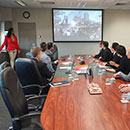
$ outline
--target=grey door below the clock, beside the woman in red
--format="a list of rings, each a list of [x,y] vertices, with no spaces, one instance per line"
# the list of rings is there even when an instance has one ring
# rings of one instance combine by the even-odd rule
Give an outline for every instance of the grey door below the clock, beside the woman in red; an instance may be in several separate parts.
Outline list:
[[[36,46],[36,24],[18,23],[20,57],[26,57],[26,53]]]

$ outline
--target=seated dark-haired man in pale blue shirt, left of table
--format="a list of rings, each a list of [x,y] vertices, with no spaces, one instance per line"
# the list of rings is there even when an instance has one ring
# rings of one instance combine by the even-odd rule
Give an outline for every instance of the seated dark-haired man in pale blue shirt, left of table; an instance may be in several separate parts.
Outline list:
[[[51,62],[51,58],[46,54],[46,51],[47,51],[47,45],[45,42],[42,42],[40,44],[41,46],[41,49],[42,49],[42,54],[41,54],[41,58],[40,60],[44,63],[46,63],[47,65],[47,68],[49,69],[49,71],[51,71],[52,73],[55,72],[53,66],[52,66],[52,62]]]

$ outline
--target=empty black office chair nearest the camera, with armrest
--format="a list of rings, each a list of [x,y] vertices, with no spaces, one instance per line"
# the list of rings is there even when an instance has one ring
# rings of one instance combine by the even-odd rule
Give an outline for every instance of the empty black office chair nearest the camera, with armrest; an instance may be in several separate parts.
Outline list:
[[[12,118],[11,130],[42,130],[40,113],[29,113],[25,95],[11,67],[3,69],[0,73],[0,90]]]

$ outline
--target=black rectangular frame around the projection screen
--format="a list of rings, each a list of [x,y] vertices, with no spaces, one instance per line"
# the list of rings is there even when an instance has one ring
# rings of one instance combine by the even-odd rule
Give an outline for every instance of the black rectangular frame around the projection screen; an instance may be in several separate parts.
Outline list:
[[[57,41],[57,40],[55,40],[55,38],[54,38],[54,10],[88,10],[88,11],[101,11],[102,12],[102,26],[101,26],[101,40],[99,40],[99,41]],[[104,10],[103,9],[77,9],[77,8],[52,8],[52,38],[53,38],[53,42],[56,42],[56,43],[58,43],[58,42],[71,42],[71,43],[74,43],[74,42],[87,42],[87,43],[89,43],[89,42],[100,42],[100,41],[102,41],[103,40],[103,17],[104,17]]]

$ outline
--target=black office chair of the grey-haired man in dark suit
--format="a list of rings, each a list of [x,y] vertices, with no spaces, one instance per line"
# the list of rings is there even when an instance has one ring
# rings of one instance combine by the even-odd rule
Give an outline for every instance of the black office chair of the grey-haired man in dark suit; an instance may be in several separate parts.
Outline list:
[[[43,80],[41,74],[37,68],[34,60],[28,58],[18,58],[15,62],[15,70],[22,86],[26,88],[28,85],[32,85],[32,88],[24,89],[24,93],[27,94],[39,94],[43,86]]]

